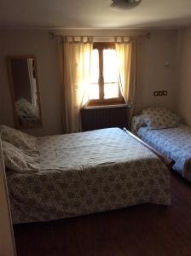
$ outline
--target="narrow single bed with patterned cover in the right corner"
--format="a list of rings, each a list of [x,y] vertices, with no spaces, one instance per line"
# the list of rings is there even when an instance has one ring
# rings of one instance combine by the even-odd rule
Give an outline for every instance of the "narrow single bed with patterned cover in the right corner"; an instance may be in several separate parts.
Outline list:
[[[150,127],[150,119],[153,119],[153,116],[159,119],[158,113],[161,113],[160,117],[162,117],[166,112],[169,114],[166,118],[163,117],[165,124]],[[171,158],[174,161],[172,169],[191,181],[191,128],[183,125],[179,118],[174,119],[176,121],[171,124],[167,123],[171,114],[175,117],[174,113],[164,108],[163,111],[161,108],[143,110],[133,119],[134,133],[161,154]]]

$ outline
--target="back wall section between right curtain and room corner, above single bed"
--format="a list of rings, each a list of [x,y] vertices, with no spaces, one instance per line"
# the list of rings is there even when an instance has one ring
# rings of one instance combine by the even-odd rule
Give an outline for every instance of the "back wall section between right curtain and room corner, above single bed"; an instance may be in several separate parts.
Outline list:
[[[167,90],[168,95],[153,96],[154,90]],[[153,32],[146,44],[142,107],[149,106],[177,108],[177,31]]]

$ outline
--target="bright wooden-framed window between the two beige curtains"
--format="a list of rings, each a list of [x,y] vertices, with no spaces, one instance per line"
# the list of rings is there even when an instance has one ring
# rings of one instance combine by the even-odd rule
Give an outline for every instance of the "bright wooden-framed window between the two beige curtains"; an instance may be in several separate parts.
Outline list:
[[[124,103],[113,43],[94,44],[90,81],[90,105]]]

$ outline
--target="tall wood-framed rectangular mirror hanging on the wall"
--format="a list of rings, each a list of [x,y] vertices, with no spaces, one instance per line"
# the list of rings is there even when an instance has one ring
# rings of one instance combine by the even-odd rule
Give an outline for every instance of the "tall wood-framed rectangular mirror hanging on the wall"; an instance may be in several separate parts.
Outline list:
[[[8,68],[16,127],[42,126],[35,56],[9,56]]]

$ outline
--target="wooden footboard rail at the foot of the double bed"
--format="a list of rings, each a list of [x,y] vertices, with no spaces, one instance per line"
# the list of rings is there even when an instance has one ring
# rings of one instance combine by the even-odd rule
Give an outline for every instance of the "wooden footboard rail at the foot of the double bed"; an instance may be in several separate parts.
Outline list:
[[[142,145],[144,145],[146,148],[148,148],[151,151],[153,151],[153,153],[156,154],[159,157],[159,159],[162,160],[165,163],[165,165],[168,167],[169,171],[172,170],[172,166],[175,163],[174,160],[171,160],[171,158],[168,158],[164,154],[161,154],[158,150],[152,148],[150,145],[148,145],[147,143],[143,142],[139,137],[136,137],[136,135],[134,135],[132,132],[128,131],[126,128],[124,128],[123,130],[124,130],[124,132],[129,134],[131,137],[135,138],[138,142],[142,143]]]

